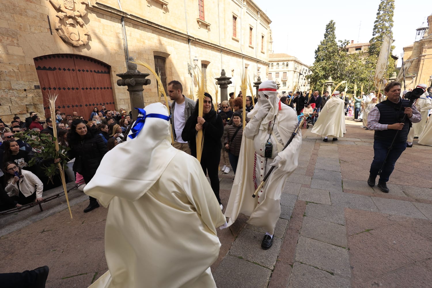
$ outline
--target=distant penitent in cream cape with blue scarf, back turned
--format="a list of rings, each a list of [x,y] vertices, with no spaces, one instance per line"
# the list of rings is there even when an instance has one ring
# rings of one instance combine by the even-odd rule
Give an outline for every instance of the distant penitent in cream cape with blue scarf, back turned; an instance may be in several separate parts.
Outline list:
[[[331,97],[321,109],[311,132],[321,136],[343,137],[346,132],[343,105],[342,99]]]

